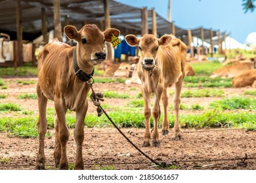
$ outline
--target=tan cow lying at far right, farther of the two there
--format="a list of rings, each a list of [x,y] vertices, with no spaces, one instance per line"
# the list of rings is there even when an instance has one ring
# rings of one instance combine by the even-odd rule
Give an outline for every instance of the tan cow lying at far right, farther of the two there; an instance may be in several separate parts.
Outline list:
[[[251,60],[255,60],[251,59]],[[248,71],[254,69],[255,61],[244,62],[244,63],[234,63],[233,65],[226,65],[213,72],[211,78],[223,77],[223,78],[234,78],[235,76],[240,75],[243,71]]]

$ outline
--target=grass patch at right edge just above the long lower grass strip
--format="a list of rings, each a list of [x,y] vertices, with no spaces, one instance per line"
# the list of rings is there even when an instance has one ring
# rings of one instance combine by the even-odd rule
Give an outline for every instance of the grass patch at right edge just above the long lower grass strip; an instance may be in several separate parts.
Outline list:
[[[248,97],[230,97],[228,99],[213,101],[209,106],[212,108],[220,108],[221,110],[256,109],[256,99]]]

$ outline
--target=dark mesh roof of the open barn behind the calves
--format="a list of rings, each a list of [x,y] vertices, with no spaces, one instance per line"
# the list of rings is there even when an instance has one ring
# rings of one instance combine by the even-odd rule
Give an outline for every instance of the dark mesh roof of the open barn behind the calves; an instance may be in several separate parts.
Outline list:
[[[48,30],[53,29],[53,0],[20,0],[22,9],[23,37],[33,40],[41,35],[41,7],[45,7]],[[131,7],[109,0],[110,19],[112,27],[127,33],[140,34],[142,8]],[[68,16],[70,24],[81,28],[84,24],[96,24],[102,27],[104,22],[104,4],[102,0],[61,0],[60,14],[62,25],[64,16]],[[0,0],[0,32],[9,33],[16,39],[16,0]],[[171,22],[156,12],[158,35],[171,33]],[[152,32],[152,10],[148,9],[148,29]],[[203,28],[204,29],[204,28]],[[186,37],[187,29],[175,25],[175,35]],[[200,28],[192,29],[192,35],[201,37]],[[213,36],[217,31],[213,31]],[[209,29],[204,29],[205,39],[209,39]]]

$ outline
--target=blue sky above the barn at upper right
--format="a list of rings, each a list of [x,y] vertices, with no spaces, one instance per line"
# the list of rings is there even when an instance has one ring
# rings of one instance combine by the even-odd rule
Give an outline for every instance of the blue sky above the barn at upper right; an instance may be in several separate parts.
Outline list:
[[[116,0],[133,7],[154,7],[167,19],[169,0]],[[231,33],[242,44],[247,35],[256,32],[256,9],[244,13],[242,0],[171,0],[171,21],[184,29],[212,28]]]

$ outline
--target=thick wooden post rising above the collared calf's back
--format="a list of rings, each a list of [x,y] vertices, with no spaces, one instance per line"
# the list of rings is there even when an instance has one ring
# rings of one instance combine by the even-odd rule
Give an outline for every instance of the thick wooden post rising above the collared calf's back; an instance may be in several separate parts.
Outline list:
[[[60,0],[53,0],[54,37],[62,42],[62,28],[60,21]]]

